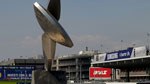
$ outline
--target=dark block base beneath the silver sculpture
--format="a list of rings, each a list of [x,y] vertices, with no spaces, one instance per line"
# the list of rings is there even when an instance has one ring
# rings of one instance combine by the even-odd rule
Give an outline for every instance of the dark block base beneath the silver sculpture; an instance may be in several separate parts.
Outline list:
[[[67,84],[64,71],[35,70],[32,72],[32,84]]]

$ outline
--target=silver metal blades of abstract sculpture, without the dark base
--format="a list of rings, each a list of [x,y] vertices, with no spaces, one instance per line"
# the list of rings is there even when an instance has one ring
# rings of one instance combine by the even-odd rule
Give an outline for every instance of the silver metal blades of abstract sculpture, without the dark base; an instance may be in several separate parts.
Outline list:
[[[63,27],[59,24],[60,0],[50,0],[47,9],[37,2],[34,3],[36,18],[44,31],[42,35],[43,54],[46,70],[51,69],[52,59],[55,55],[56,43],[72,47],[73,43]]]

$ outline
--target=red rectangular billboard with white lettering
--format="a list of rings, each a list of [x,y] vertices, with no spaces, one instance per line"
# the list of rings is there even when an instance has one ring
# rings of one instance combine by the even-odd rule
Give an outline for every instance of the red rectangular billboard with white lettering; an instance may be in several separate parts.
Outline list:
[[[111,79],[111,68],[91,67],[89,75],[90,79]]]

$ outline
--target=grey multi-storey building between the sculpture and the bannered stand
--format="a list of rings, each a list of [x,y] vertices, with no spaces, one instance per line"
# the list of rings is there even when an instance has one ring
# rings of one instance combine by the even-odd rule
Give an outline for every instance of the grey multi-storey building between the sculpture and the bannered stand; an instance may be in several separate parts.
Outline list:
[[[52,62],[52,70],[66,71],[67,80],[89,80],[91,58],[97,51],[80,51],[79,54],[56,57]]]

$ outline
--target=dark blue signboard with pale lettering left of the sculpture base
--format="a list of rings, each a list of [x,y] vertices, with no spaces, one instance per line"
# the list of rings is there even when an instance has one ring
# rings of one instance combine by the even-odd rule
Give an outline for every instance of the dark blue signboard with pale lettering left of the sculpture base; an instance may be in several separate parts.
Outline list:
[[[0,66],[1,80],[32,80],[32,71],[34,66]]]

